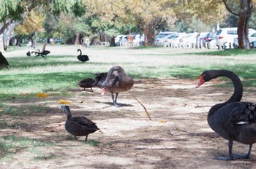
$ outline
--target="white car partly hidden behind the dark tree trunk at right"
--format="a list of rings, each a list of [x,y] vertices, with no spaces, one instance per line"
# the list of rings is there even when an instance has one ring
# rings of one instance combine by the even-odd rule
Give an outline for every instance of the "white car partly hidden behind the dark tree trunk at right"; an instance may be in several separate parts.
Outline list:
[[[249,34],[255,31],[249,28]],[[234,45],[234,38],[237,38],[237,28],[221,28],[217,31],[217,46],[222,49],[231,49]]]

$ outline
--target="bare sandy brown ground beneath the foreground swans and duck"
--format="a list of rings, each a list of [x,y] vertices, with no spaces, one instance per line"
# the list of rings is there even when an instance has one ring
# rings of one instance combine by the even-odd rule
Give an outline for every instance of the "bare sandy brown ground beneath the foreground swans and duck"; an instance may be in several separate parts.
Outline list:
[[[85,137],[74,141],[64,130],[66,117],[56,103],[59,98],[52,95],[23,101],[23,105],[50,103],[51,107],[23,118],[29,125],[1,130],[1,135],[52,141],[55,146],[38,146],[37,153],[17,151],[14,160],[2,162],[0,168],[254,168],[255,149],[250,160],[214,160],[227,154],[227,141],[208,126],[207,112],[227,100],[233,89],[212,87],[217,81],[195,89],[197,80],[135,80],[130,92],[152,120],[129,92],[118,96],[118,103],[126,106],[116,108],[111,106],[110,94],[100,95],[97,88],[94,93],[80,88],[69,91],[72,97],[64,99],[71,102],[72,114],[88,117],[102,130],[89,135],[87,143]],[[255,95],[246,91],[244,101],[255,101]],[[248,146],[235,142],[234,153],[245,154],[247,150]]]

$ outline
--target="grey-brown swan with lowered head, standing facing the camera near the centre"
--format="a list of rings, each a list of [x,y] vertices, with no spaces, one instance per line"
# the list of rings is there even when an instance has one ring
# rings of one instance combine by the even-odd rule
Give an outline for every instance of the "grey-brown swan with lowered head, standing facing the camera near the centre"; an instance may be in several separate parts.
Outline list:
[[[116,107],[120,107],[121,105],[116,103],[118,93],[125,92],[130,90],[134,84],[131,76],[128,76],[124,68],[121,66],[113,66],[108,71],[108,74],[105,73],[100,74],[102,78],[99,76],[96,77],[96,86],[102,88],[102,95],[106,92],[111,93],[113,105]],[[104,81],[103,81],[104,80]],[[113,93],[116,93],[116,98]]]

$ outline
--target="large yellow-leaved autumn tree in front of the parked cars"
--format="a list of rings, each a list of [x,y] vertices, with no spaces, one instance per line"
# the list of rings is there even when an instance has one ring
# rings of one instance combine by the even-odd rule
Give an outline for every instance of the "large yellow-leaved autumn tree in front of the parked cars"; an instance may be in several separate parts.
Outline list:
[[[103,20],[109,22],[133,23],[138,25],[153,44],[154,36],[164,27],[173,25],[176,20],[195,17],[206,24],[219,23],[223,20],[221,0],[83,0],[95,13],[101,13]],[[195,26],[196,27],[196,26]]]

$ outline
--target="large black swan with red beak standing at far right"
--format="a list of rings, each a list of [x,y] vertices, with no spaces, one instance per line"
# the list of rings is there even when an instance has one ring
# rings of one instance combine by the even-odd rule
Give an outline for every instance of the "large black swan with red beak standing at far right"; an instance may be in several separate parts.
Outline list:
[[[209,126],[222,138],[228,140],[228,157],[217,157],[217,160],[249,159],[252,144],[256,143],[256,104],[241,102],[243,85],[239,77],[232,71],[204,71],[197,87],[219,76],[227,76],[232,80],[234,93],[228,101],[212,106],[208,112]],[[233,141],[248,144],[247,154],[233,154]]]

